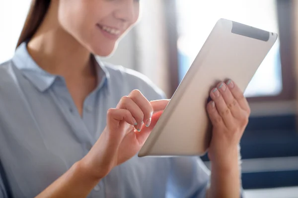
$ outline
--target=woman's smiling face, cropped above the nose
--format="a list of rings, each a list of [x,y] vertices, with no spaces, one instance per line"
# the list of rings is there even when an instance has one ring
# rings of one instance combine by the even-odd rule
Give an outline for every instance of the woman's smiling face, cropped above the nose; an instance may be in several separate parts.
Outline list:
[[[100,56],[111,54],[117,41],[138,20],[140,0],[59,0],[62,28]]]

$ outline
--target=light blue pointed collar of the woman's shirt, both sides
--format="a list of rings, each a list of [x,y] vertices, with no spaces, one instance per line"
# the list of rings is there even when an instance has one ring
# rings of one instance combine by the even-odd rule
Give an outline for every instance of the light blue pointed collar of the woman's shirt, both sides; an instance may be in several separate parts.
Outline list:
[[[95,60],[97,77],[100,79],[96,90],[102,88],[110,79],[110,74],[105,68],[104,64],[92,54],[92,58]],[[27,50],[27,42],[23,42],[15,51],[12,57],[12,62],[22,71],[22,74],[41,92],[49,89],[55,80],[59,77],[43,70],[33,60]]]

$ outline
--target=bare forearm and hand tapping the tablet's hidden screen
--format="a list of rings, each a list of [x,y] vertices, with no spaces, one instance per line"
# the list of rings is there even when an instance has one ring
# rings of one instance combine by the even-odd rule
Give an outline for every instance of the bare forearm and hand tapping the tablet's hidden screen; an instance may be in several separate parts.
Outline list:
[[[129,160],[143,146],[168,100],[149,102],[140,91],[123,97],[107,113],[107,126],[81,160],[37,198],[85,198],[113,167]],[[151,112],[154,112],[152,115]],[[150,120],[149,126],[142,124]],[[140,123],[140,124],[136,124]],[[137,129],[142,127],[141,132]]]

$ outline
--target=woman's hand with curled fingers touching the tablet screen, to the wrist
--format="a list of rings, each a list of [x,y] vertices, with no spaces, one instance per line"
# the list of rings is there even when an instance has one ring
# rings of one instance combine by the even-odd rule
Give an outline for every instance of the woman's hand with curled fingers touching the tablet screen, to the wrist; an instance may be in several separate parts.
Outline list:
[[[80,160],[82,166],[101,179],[112,168],[136,155],[168,102],[168,99],[148,101],[139,90],[122,97],[116,108],[108,110],[107,125]]]

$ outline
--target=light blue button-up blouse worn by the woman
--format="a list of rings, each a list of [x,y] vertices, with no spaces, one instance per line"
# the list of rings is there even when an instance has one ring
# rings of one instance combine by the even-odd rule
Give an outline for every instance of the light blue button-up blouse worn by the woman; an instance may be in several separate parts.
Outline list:
[[[26,43],[0,64],[0,198],[33,198],[96,142],[106,112],[139,89],[164,94],[141,73],[97,60],[99,82],[77,112],[63,77],[42,70]],[[89,198],[204,198],[209,170],[198,157],[139,158],[115,167]]]

